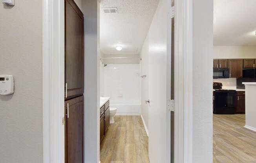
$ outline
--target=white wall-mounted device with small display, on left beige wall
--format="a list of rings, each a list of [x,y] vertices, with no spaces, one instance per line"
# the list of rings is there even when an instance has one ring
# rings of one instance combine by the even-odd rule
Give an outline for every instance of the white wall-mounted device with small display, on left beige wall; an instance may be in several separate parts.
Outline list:
[[[0,94],[9,95],[14,93],[13,75],[0,75]]]

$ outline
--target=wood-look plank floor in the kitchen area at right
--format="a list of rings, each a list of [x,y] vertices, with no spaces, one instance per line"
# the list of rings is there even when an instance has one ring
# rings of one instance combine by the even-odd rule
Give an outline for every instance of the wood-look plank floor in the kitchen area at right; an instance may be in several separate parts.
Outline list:
[[[256,132],[244,125],[245,114],[214,114],[214,163],[256,163]]]

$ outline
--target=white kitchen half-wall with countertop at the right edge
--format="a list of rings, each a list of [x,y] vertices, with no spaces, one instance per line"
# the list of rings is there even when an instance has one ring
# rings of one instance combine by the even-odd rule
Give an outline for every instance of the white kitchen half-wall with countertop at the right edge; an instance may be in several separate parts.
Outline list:
[[[245,85],[245,128],[256,132],[256,82]]]

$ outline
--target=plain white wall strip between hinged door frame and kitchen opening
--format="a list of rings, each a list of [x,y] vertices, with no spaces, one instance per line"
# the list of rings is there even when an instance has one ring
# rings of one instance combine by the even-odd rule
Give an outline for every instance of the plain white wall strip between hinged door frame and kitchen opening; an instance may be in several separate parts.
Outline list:
[[[212,60],[213,1],[193,0],[193,163],[212,163]]]

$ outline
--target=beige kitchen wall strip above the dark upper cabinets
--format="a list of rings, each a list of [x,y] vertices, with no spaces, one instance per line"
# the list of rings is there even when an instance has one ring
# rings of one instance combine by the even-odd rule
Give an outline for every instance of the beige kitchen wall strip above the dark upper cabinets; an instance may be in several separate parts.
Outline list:
[[[256,46],[214,46],[214,58],[256,58]]]

